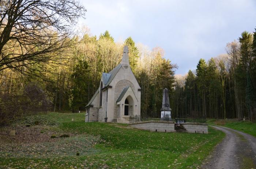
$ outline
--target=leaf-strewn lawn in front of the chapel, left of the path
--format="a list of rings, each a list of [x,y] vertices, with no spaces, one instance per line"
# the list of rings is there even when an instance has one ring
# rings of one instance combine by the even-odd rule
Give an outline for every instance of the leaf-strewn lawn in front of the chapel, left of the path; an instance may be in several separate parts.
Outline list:
[[[197,168],[225,137],[211,127],[209,134],[188,134],[126,126],[84,123],[83,113],[25,117],[1,128],[0,168]],[[7,134],[13,128],[17,138]]]

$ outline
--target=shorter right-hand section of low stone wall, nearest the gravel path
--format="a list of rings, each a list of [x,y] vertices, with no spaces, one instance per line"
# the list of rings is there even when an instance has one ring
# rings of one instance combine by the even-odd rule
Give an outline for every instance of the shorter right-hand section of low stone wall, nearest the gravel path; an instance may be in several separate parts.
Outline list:
[[[189,133],[202,133],[208,134],[208,124],[206,123],[181,123]]]

